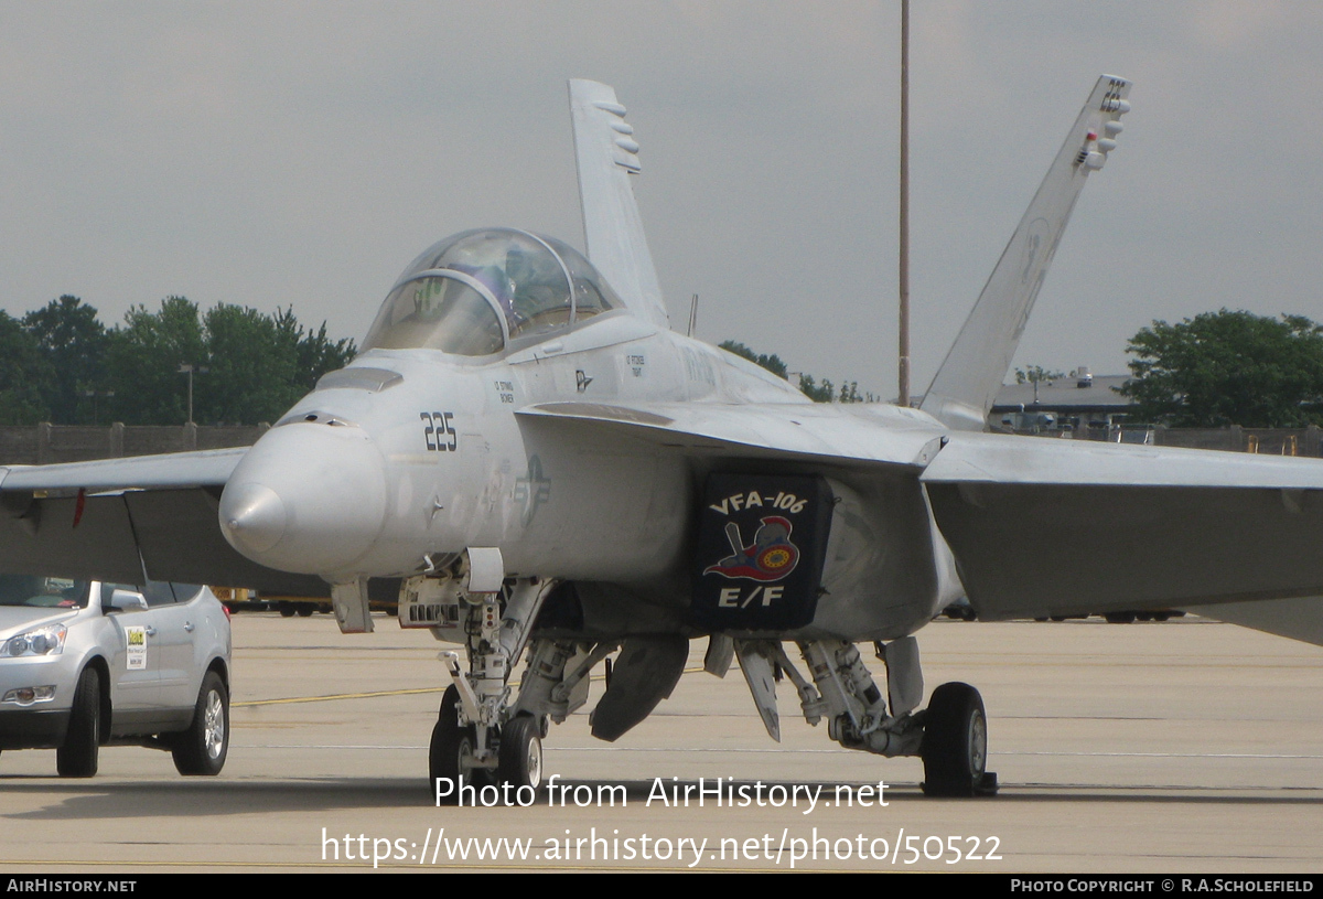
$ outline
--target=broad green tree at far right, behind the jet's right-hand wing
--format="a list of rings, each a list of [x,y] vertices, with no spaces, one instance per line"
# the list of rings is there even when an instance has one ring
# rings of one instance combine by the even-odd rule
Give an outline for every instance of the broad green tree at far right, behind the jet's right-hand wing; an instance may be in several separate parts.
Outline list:
[[[1126,350],[1121,393],[1136,417],[1177,428],[1323,424],[1323,327],[1301,315],[1204,312],[1154,322]]]

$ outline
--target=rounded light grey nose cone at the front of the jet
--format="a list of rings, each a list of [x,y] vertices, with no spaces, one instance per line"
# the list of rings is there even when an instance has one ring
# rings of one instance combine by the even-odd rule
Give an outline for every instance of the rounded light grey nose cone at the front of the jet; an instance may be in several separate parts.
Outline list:
[[[269,430],[221,494],[225,539],[279,571],[351,571],[372,549],[384,520],[381,454],[352,426],[298,422]]]

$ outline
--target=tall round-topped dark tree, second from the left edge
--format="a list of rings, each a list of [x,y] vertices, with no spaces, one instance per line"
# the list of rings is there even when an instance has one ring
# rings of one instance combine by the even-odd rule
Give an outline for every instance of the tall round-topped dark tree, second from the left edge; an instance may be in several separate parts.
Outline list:
[[[50,364],[50,381],[44,388],[50,421],[57,425],[91,421],[93,402],[85,393],[105,389],[110,344],[97,310],[65,294],[24,315],[22,327]]]

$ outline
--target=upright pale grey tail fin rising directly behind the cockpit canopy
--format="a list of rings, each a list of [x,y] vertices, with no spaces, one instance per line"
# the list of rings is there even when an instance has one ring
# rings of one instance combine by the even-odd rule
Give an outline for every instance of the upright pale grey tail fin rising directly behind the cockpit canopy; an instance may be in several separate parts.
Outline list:
[[[630,175],[639,171],[639,144],[634,127],[624,120],[624,107],[613,87],[573,79],[570,118],[587,258],[627,306],[650,322],[669,327],[630,184]]]

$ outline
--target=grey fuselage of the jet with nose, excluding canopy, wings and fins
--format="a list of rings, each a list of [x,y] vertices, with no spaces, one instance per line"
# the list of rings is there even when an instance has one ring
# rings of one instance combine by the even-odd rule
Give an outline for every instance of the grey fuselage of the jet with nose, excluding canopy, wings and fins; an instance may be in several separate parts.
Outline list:
[[[566,401],[758,404],[787,417],[808,404],[785,380],[628,308],[478,357],[374,347],[262,436],[225,489],[222,531],[262,565],[331,583],[407,577],[429,560],[496,547],[512,577],[635,585],[644,596],[652,584],[655,600],[684,604],[701,478],[713,463],[517,414]],[[934,436],[943,432],[893,406],[839,413],[878,429],[893,416],[913,428],[921,416]],[[841,561],[828,580],[840,581],[832,593],[841,609],[830,630],[909,633],[958,594],[950,555],[917,478],[909,481],[845,477],[837,486],[857,493],[859,508],[840,516],[853,524],[836,526],[856,534],[836,538]],[[857,614],[864,608],[872,613]]]

